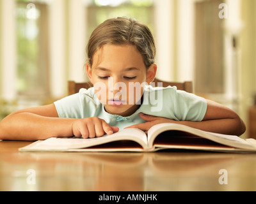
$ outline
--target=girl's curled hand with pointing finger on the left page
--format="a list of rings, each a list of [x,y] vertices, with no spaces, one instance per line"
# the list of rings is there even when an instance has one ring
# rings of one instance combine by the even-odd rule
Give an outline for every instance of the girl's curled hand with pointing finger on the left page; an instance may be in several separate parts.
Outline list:
[[[118,132],[117,127],[109,126],[105,120],[99,117],[88,117],[77,119],[72,124],[72,133],[74,136],[83,136],[83,138],[95,138],[102,135],[111,135]]]

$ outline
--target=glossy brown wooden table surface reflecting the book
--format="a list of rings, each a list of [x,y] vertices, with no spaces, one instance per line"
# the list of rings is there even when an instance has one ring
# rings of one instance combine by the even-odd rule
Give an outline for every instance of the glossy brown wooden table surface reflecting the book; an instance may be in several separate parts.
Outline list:
[[[256,191],[256,154],[19,152],[0,141],[0,191]]]

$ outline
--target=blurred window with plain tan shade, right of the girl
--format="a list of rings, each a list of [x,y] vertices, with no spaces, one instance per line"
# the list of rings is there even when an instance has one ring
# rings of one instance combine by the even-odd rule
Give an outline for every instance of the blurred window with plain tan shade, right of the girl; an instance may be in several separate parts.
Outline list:
[[[195,4],[195,82],[196,92],[224,92],[223,20],[218,17],[221,1]]]

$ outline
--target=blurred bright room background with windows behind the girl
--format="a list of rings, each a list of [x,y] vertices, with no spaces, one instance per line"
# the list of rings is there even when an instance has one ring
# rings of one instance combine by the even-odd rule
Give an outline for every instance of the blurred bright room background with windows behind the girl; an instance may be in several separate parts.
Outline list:
[[[0,120],[67,96],[68,80],[86,81],[90,34],[119,16],[150,27],[157,78],[191,80],[195,94],[232,108],[248,125],[256,94],[255,0],[0,0]]]

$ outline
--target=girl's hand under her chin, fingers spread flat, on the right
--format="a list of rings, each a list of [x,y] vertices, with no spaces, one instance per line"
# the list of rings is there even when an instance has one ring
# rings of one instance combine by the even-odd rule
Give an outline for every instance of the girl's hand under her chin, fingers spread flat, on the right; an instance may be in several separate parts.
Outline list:
[[[126,128],[139,128],[139,129],[145,131],[145,133],[147,133],[148,129],[156,124],[164,123],[164,122],[173,122],[173,123],[176,122],[177,123],[177,121],[171,120],[171,119],[166,119],[165,117],[157,117],[157,116],[153,116],[153,115],[146,115],[143,113],[140,113],[140,117],[141,117],[141,119],[147,120],[148,122],[135,124],[133,126],[129,126]]]

